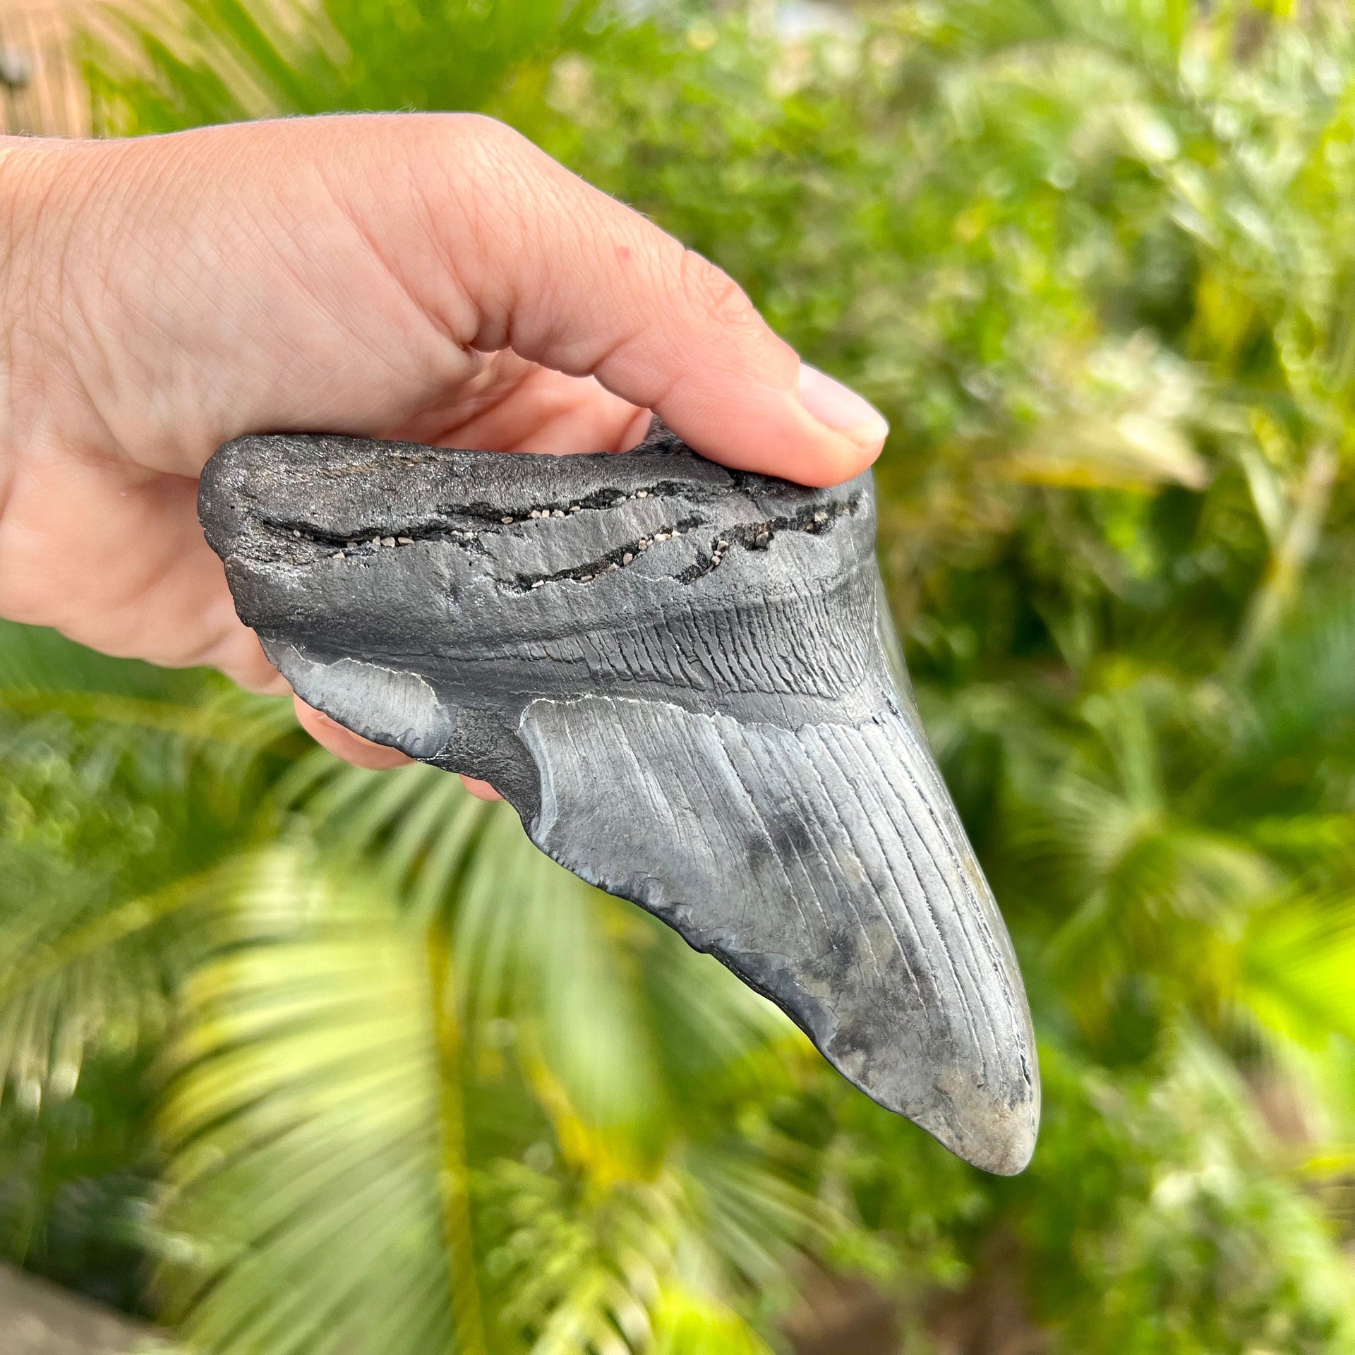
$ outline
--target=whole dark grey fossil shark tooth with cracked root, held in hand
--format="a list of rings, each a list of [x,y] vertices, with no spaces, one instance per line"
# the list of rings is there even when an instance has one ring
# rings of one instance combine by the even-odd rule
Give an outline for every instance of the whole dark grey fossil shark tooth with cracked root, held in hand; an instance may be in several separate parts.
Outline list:
[[[251,436],[199,512],[305,701],[489,780],[882,1106],[1026,1165],[1026,996],[888,631],[869,473],[805,489],[657,427],[581,457]]]

